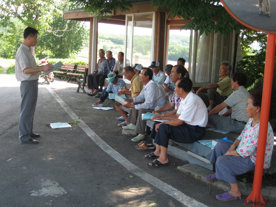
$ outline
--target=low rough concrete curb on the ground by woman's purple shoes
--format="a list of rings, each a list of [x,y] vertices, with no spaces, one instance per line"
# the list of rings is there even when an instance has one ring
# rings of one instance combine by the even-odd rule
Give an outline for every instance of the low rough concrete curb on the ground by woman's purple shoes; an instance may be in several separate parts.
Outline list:
[[[195,164],[185,164],[183,166],[178,166],[177,169],[181,170],[184,173],[188,173],[194,178],[201,180],[203,182],[206,182],[208,184],[209,182],[204,180],[204,177],[214,173],[211,170],[207,170],[204,167],[200,167]],[[239,188],[242,194],[249,195],[252,192],[253,184],[240,182],[240,181],[238,181],[237,184],[239,185]],[[216,180],[216,181],[210,182],[210,185],[213,185],[216,188],[222,189],[226,192],[230,191],[230,185],[227,182],[222,180]],[[265,198],[276,200],[276,187],[262,186],[261,194]]]

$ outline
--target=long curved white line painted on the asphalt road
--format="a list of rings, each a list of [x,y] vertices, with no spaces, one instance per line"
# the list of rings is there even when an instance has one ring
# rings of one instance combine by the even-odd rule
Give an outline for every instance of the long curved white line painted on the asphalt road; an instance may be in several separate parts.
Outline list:
[[[165,192],[169,196],[175,198],[179,202],[183,203],[184,205],[188,207],[208,207],[204,205],[203,203],[200,203],[196,201],[195,199],[185,195],[181,191],[178,191],[174,187],[166,184],[165,182],[157,179],[156,177],[146,173],[144,170],[140,169],[136,165],[132,164],[130,161],[128,161],[126,158],[124,158],[119,152],[115,151],[113,148],[111,148],[107,143],[105,143],[98,135],[95,134],[95,132],[92,131],[79,117],[66,105],[66,103],[50,88],[50,86],[47,86],[47,89],[50,91],[50,93],[54,96],[54,98],[57,100],[57,102],[60,103],[62,108],[69,114],[69,116],[73,120],[79,120],[81,121],[78,125],[81,127],[81,129],[84,130],[84,132],[101,148],[103,149],[108,155],[113,157],[117,162],[122,164],[126,169],[128,169],[131,173],[137,175],[141,179],[145,180],[149,184],[155,186],[156,188],[159,188],[161,191]]]

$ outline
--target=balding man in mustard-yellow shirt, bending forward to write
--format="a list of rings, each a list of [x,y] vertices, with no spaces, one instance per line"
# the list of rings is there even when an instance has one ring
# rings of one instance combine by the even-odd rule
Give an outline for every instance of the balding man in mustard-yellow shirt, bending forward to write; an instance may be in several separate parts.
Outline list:
[[[144,84],[139,81],[139,73],[134,72],[134,69],[131,66],[126,66],[123,69],[123,74],[125,75],[125,78],[131,81],[131,89],[130,90],[122,90],[119,91],[117,94],[118,96],[125,94],[126,96],[137,97],[140,92],[143,90]],[[124,122],[118,124],[118,126],[127,126],[130,123],[128,122],[128,116],[127,113],[130,113],[131,108],[125,108],[122,106],[119,102],[106,100],[107,104],[115,106],[119,114],[122,115],[122,117],[125,119]]]

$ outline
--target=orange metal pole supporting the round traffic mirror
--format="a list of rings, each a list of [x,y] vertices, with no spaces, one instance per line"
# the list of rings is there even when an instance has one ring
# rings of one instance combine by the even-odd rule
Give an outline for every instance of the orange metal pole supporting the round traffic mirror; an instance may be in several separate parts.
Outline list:
[[[265,72],[263,78],[263,96],[262,96],[262,108],[260,116],[260,131],[258,138],[258,148],[257,157],[255,165],[255,173],[253,180],[253,189],[251,194],[245,199],[246,201],[251,201],[254,204],[263,203],[265,204],[263,197],[261,195],[261,185],[263,178],[263,162],[266,150],[266,134],[269,120],[269,108],[271,99],[271,88],[272,88],[272,77],[273,77],[273,67],[275,58],[275,40],[276,34],[267,35],[267,45],[266,45],[266,62],[265,62]],[[249,202],[247,202],[249,203]]]

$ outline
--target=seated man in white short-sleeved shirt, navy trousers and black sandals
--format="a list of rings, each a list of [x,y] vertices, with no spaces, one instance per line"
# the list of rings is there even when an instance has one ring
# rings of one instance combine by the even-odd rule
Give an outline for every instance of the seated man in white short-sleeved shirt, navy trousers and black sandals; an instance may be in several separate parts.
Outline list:
[[[156,149],[144,158],[156,160],[147,166],[156,168],[168,165],[167,148],[169,139],[179,143],[194,143],[204,135],[204,127],[207,125],[207,109],[200,97],[192,93],[192,81],[181,78],[176,82],[175,91],[181,97],[181,103],[176,114],[163,116],[161,123],[154,123],[150,138],[154,139]],[[152,118],[152,120],[154,117]]]

